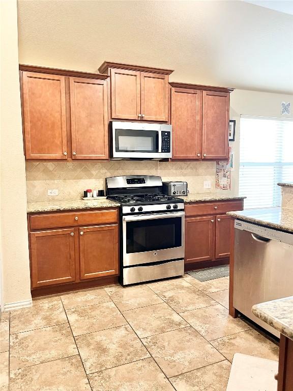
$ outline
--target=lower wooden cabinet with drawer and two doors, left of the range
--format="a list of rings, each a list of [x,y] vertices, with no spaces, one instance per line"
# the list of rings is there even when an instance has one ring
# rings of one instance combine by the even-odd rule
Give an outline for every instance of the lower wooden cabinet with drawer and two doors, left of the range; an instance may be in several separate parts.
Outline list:
[[[119,275],[118,209],[76,212],[74,222],[78,224],[80,218],[84,226],[52,227],[68,224],[72,215],[56,212],[28,217],[32,289]],[[42,229],[34,228],[37,223]]]

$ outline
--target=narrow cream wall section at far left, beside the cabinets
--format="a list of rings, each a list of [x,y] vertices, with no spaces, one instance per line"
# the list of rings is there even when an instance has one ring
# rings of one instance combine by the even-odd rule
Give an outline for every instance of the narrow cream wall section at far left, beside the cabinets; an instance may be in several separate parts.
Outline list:
[[[26,225],[25,163],[20,110],[16,0],[2,0],[0,241],[4,308],[30,304],[30,264]]]

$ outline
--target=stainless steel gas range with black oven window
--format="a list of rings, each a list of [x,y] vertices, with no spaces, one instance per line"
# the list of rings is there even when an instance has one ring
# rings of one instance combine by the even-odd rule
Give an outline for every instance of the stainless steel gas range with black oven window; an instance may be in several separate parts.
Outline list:
[[[106,178],[106,194],[121,204],[121,284],[183,275],[184,201],[148,175]]]

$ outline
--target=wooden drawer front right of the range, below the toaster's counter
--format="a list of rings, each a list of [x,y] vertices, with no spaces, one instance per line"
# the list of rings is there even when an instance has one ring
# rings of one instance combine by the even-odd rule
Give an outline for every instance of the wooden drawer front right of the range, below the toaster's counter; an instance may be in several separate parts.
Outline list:
[[[232,201],[232,202],[213,202],[207,204],[191,204],[185,206],[186,216],[197,216],[201,214],[212,214],[212,213],[226,213],[233,210],[242,210],[243,201]]]

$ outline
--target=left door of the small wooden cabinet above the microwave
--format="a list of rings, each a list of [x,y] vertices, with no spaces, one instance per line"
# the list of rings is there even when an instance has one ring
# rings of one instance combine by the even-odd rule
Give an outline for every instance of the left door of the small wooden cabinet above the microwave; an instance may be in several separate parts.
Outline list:
[[[123,120],[140,119],[140,72],[111,69],[111,116]]]

